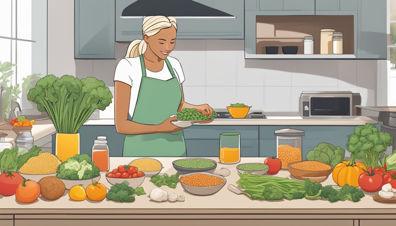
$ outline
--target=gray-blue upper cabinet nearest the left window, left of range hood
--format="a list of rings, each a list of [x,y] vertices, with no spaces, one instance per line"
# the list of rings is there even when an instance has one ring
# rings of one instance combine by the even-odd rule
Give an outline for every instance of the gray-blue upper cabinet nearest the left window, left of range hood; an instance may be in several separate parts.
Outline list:
[[[74,59],[114,59],[115,0],[74,0]]]

